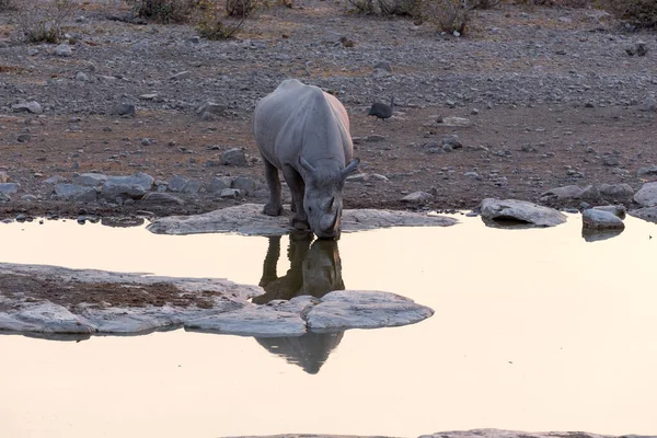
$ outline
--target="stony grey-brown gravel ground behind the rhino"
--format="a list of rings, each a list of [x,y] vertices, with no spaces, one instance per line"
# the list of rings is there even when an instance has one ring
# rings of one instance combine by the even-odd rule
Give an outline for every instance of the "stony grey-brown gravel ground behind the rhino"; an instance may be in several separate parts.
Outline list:
[[[652,175],[639,170],[657,164],[656,35],[627,33],[602,11],[507,5],[479,12],[454,37],[304,0],[261,13],[230,42],[116,20],[127,12],[116,1],[81,5],[68,47],[20,43],[0,13],[0,183],[19,184],[0,187],[1,216],[164,216],[264,201],[251,115],[290,77],[349,112],[362,172],[345,187],[349,208],[473,208],[485,197],[580,208],[579,198],[542,194],[602,183],[636,191]],[[641,42],[647,54],[630,56]],[[391,119],[367,117],[392,95]],[[130,105],[135,115],[122,115]],[[223,165],[231,148],[245,162]],[[88,172],[143,172],[168,196],[56,194]],[[233,196],[211,186],[237,176],[255,186]],[[427,195],[403,200],[418,191]],[[588,201],[632,204],[625,195]]]

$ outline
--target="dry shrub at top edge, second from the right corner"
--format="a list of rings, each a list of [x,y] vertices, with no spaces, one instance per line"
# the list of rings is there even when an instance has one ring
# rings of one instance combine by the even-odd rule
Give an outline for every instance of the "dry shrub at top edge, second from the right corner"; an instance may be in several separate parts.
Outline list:
[[[464,34],[476,1],[418,0],[415,16],[431,23],[439,31]]]

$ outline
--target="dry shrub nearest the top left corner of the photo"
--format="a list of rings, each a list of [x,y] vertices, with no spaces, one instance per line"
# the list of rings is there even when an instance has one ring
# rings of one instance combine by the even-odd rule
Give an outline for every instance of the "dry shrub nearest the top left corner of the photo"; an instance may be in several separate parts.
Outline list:
[[[78,8],[73,0],[22,0],[12,12],[25,41],[59,43]]]

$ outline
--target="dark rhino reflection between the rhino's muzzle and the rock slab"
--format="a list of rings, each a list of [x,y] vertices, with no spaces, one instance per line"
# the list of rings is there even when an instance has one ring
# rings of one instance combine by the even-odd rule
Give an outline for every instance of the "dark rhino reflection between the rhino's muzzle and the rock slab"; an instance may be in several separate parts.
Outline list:
[[[280,237],[269,238],[269,247],[263,265],[260,286],[265,293],[253,302],[264,304],[272,300],[289,300],[302,295],[321,298],[332,290],[344,290],[342,266],[334,240],[316,240],[312,234],[291,234],[288,258],[290,268],[278,277],[276,265],[280,257]]]

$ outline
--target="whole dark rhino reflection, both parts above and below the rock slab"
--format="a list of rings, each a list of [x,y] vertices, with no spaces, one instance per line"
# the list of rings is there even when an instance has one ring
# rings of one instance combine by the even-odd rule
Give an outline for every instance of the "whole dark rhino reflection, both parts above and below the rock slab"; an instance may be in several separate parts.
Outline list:
[[[265,293],[253,302],[264,304],[272,300],[289,300],[302,295],[321,298],[333,290],[344,290],[337,242],[315,240],[309,233],[290,234],[288,258],[290,268],[278,277],[276,265],[280,257],[280,237],[269,238],[269,247],[263,265],[260,286]],[[312,244],[311,244],[312,243]],[[258,337],[256,341],[268,351],[296,364],[310,374],[316,374],[331,351],[342,341],[344,332],[312,333],[297,337]]]

